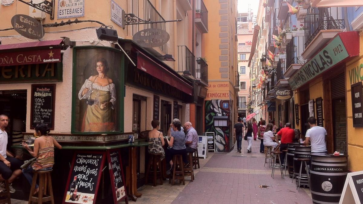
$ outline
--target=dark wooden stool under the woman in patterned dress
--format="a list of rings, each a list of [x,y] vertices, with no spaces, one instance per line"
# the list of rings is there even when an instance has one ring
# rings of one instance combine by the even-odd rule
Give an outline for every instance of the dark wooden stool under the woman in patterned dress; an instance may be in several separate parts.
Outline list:
[[[163,166],[161,163],[161,154],[150,154],[149,164],[145,175],[145,184],[148,183],[149,174],[152,173],[152,182],[156,186],[156,179],[160,178],[160,185],[163,185]]]

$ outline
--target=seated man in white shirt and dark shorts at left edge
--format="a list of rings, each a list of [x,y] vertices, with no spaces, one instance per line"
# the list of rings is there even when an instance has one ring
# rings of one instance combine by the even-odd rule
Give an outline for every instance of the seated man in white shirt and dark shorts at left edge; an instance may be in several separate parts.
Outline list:
[[[14,158],[7,149],[8,134],[5,128],[9,124],[9,118],[7,115],[0,115],[0,181],[8,180],[9,189],[11,193],[15,193],[15,189],[12,187],[14,179],[21,175],[20,166],[23,165],[23,161]],[[0,185],[0,188],[5,189],[4,183]],[[1,190],[3,190],[1,189]],[[4,191],[4,190],[3,190]]]

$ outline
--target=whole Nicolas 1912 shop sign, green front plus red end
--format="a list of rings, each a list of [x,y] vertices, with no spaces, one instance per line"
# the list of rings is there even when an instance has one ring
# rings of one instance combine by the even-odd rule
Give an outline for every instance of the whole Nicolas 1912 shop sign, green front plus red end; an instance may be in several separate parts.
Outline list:
[[[329,70],[347,57],[359,55],[358,32],[340,32],[288,79],[292,90]]]

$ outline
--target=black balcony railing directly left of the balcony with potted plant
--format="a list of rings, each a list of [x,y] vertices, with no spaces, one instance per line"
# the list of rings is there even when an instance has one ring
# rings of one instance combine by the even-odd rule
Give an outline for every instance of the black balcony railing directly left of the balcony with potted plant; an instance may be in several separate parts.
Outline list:
[[[195,56],[185,45],[178,45],[178,72],[188,71],[195,77]]]

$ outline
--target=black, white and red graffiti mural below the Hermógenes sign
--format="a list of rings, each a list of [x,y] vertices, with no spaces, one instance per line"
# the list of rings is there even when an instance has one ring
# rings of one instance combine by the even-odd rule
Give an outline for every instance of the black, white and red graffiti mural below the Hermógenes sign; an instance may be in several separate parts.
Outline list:
[[[223,108],[223,103],[230,103],[228,100],[205,101],[205,132],[215,132],[216,148],[218,152],[230,151],[230,111],[229,107]],[[213,117],[228,116],[226,126],[215,126]]]

